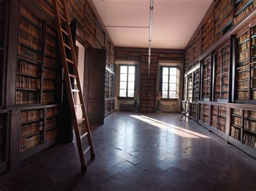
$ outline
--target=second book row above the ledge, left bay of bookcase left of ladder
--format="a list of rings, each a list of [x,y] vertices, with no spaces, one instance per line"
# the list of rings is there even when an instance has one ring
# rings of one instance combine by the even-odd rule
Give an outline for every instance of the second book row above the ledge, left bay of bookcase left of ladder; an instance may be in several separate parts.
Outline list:
[[[25,77],[25,76],[17,76],[17,88],[25,88],[25,89],[40,89],[41,86],[40,79]]]

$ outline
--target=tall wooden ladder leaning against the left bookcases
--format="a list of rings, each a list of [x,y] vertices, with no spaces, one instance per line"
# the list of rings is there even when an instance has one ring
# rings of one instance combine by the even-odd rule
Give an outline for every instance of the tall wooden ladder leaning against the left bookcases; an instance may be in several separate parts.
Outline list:
[[[84,154],[90,150],[91,158],[95,158],[95,153],[93,151],[91,132],[90,132],[89,122],[86,114],[82,88],[81,88],[80,80],[78,76],[77,61],[76,61],[75,49],[74,49],[73,41],[71,37],[68,12],[66,10],[65,0],[53,0],[52,2],[53,2],[54,14],[55,14],[60,56],[61,56],[62,65],[64,68],[64,79],[65,79],[66,89],[67,89],[68,98],[69,98],[69,105],[70,105],[70,110],[72,115],[72,124],[75,130],[75,135],[77,140],[77,147],[78,147],[78,152],[79,152],[79,157],[81,162],[81,169],[82,171],[86,171],[86,162],[85,162]],[[72,88],[71,79],[76,80],[77,89]],[[73,95],[74,93],[78,93],[80,104],[75,105],[74,95]],[[77,115],[76,115],[77,107],[82,108],[82,112],[83,112],[82,119],[77,119]],[[86,132],[83,133],[83,135],[81,135],[80,133],[80,130],[82,130],[82,127],[80,127],[81,122],[84,122],[84,126],[86,129]],[[82,138],[85,136],[87,136],[89,147],[87,147],[84,150],[82,145]]]

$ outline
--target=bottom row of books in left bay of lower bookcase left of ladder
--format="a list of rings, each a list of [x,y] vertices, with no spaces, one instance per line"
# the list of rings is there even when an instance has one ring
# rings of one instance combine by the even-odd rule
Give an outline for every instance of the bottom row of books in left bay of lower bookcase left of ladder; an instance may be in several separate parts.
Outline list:
[[[29,138],[21,139],[21,152],[29,150],[39,144],[43,143],[42,135],[38,134]]]

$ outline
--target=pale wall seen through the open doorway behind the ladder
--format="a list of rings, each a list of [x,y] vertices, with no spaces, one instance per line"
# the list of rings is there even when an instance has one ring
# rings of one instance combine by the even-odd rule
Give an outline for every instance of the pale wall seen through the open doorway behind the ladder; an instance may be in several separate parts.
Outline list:
[[[82,94],[83,94],[84,93],[83,87],[84,87],[85,47],[80,43],[78,43],[78,41],[76,41],[76,45],[78,46],[78,61],[77,61],[78,75],[79,75],[79,79],[82,87]],[[77,104],[80,104],[79,96],[77,96]],[[77,109],[77,112],[76,112],[77,118],[78,119],[83,118],[83,112],[81,107],[78,107],[76,109]]]

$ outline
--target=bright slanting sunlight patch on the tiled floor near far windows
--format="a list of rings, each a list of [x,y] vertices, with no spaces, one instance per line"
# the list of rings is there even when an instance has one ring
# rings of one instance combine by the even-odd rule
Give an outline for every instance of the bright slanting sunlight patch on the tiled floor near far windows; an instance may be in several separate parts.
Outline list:
[[[202,135],[201,133],[197,133],[197,132],[194,132],[194,131],[183,129],[183,128],[180,128],[179,126],[172,125],[172,124],[165,123],[165,122],[161,122],[157,119],[153,119],[153,118],[150,118],[150,117],[147,117],[147,116],[143,116],[143,115],[140,115],[140,116],[130,115],[130,116],[134,117],[134,118],[137,118],[140,121],[143,121],[143,122],[149,123],[153,126],[156,126],[157,128],[164,129],[166,131],[175,133],[176,135],[184,137],[184,138],[211,138],[211,137]]]

